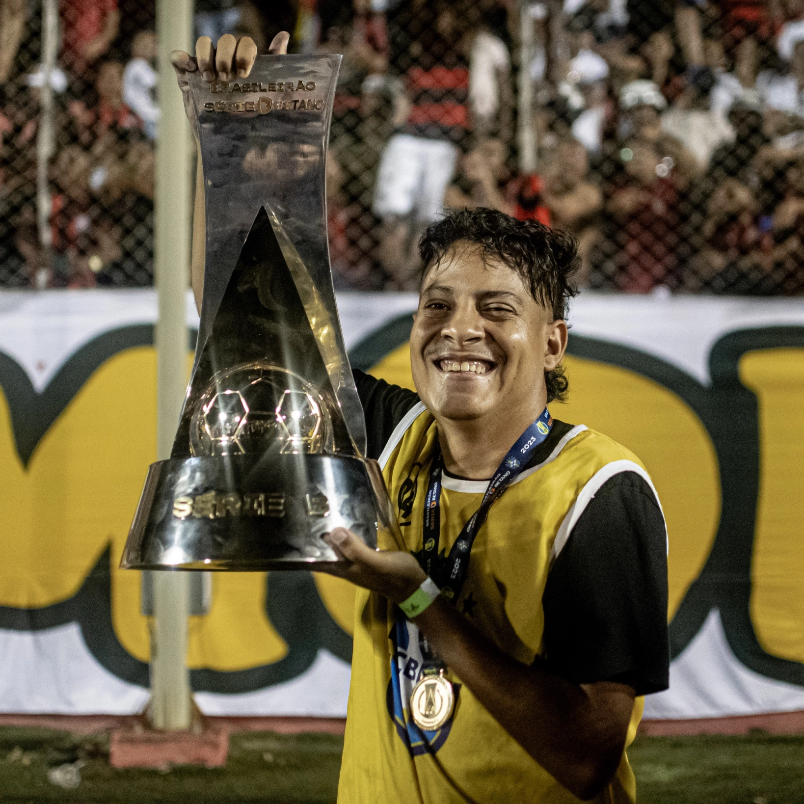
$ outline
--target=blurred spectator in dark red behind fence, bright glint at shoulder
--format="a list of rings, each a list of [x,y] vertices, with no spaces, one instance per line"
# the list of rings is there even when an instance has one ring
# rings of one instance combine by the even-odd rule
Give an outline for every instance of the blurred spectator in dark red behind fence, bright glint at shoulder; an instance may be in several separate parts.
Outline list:
[[[626,293],[677,285],[679,190],[653,142],[630,140],[622,150],[626,187],[607,205],[619,225],[615,284]],[[662,170],[663,168],[663,170]]]

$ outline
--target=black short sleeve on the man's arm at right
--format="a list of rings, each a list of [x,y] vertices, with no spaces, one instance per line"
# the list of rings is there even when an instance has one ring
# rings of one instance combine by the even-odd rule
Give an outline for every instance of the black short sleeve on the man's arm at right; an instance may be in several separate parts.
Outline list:
[[[575,683],[667,689],[667,541],[650,486],[624,472],[601,486],[544,589],[549,666]]]

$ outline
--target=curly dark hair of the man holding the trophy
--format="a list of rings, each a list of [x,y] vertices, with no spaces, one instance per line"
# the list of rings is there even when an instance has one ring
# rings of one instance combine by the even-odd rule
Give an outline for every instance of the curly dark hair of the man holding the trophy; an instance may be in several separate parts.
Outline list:
[[[478,244],[484,256],[495,257],[516,271],[535,301],[552,310],[554,319],[566,318],[568,301],[577,293],[572,277],[580,267],[575,238],[538,221],[517,220],[486,207],[451,211],[421,236],[422,279],[460,240]],[[566,401],[569,380],[563,366],[545,371],[544,382],[548,402]]]

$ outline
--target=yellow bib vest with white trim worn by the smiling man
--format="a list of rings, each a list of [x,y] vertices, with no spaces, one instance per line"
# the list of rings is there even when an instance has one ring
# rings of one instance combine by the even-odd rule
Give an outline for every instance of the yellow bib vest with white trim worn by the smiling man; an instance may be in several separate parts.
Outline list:
[[[422,509],[436,437],[433,416],[419,404],[380,457],[404,538],[404,544],[381,548],[422,549]],[[478,531],[458,610],[471,613],[474,627],[519,662],[530,664],[541,650],[542,596],[552,560],[594,492],[622,471],[637,472],[650,484],[633,453],[583,425],[574,427],[543,463],[520,474]],[[477,511],[485,487],[485,482],[444,478],[441,548],[446,552]],[[384,597],[359,589],[338,804],[578,801],[449,671],[457,692],[453,718],[437,732],[421,732],[408,712],[421,659],[416,626]],[[634,740],[642,704],[642,698],[634,704],[626,745]],[[623,753],[616,777],[596,801],[635,799],[634,774]]]

